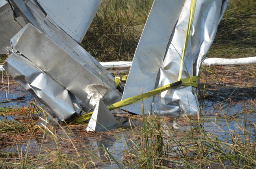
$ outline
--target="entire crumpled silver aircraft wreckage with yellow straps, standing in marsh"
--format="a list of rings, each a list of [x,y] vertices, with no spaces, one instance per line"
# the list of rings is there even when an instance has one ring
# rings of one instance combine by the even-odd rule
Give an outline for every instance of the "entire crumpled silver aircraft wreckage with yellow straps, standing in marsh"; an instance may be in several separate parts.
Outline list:
[[[4,68],[49,114],[64,121],[93,110],[79,120],[91,117],[87,130],[100,131],[117,124],[110,112],[117,108],[142,114],[143,103],[144,111],[174,116],[200,110],[200,63],[228,0],[155,0],[124,90],[79,45],[101,1],[75,3],[0,0],[0,53],[11,41]]]

